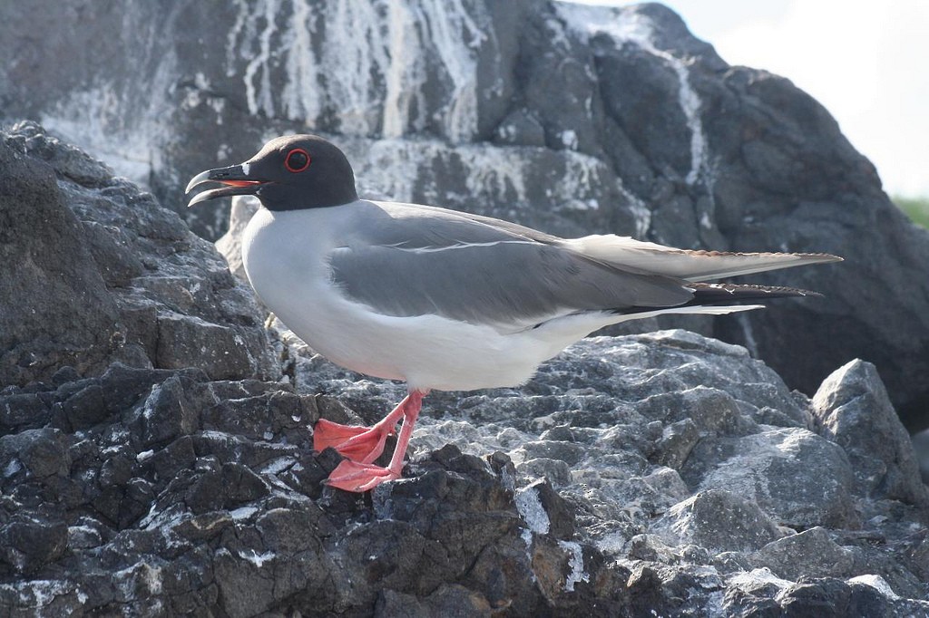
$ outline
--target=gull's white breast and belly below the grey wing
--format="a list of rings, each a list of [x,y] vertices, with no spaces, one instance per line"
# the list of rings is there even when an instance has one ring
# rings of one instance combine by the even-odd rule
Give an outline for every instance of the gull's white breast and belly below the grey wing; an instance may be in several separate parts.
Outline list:
[[[448,391],[522,383],[555,354],[547,345],[544,351],[519,345],[489,326],[438,315],[380,315],[348,300],[332,283],[328,256],[363,213],[351,206],[261,208],[243,237],[242,262],[258,296],[315,351],[360,373]]]

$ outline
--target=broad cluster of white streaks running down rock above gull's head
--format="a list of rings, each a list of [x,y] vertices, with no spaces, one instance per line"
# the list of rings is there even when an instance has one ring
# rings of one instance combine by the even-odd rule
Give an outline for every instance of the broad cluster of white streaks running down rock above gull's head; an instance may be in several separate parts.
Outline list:
[[[487,39],[471,14],[483,16],[479,6],[464,0],[328,0],[317,8],[297,0],[291,14],[281,8],[280,0],[236,5],[227,67],[233,76],[246,61],[249,113],[309,128],[331,116],[349,135],[399,137],[432,120],[452,142],[476,134],[478,49]],[[271,77],[281,72],[276,94]],[[426,86],[437,83],[442,85],[427,100]]]

